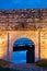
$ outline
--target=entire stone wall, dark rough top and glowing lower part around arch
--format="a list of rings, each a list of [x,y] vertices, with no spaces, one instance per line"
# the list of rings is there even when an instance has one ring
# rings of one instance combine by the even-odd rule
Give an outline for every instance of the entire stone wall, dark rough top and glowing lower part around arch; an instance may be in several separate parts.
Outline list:
[[[0,10],[0,59],[12,59],[13,43],[21,37],[34,42],[35,60],[47,59],[47,9]]]

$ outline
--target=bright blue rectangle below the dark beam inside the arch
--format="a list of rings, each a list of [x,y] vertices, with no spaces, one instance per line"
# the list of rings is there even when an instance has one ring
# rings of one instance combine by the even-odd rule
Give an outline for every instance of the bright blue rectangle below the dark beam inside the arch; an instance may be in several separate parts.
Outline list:
[[[27,50],[13,51],[12,62],[13,63],[26,63],[26,51]]]

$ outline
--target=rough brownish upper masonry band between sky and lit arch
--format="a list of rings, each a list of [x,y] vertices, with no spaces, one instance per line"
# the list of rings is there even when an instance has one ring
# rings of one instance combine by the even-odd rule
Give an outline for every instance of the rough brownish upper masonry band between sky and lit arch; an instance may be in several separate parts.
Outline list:
[[[47,28],[47,9],[0,10],[0,31]]]

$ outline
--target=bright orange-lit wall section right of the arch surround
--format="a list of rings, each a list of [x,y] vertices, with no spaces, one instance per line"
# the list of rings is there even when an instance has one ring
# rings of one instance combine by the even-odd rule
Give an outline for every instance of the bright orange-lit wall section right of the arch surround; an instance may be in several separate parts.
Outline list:
[[[40,58],[47,59],[47,29],[40,34]]]

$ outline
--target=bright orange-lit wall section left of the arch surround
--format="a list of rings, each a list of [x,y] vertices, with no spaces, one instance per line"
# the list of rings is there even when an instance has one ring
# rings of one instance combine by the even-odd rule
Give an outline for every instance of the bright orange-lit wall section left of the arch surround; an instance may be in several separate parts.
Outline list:
[[[7,35],[5,33],[0,34],[0,59],[7,55]]]

